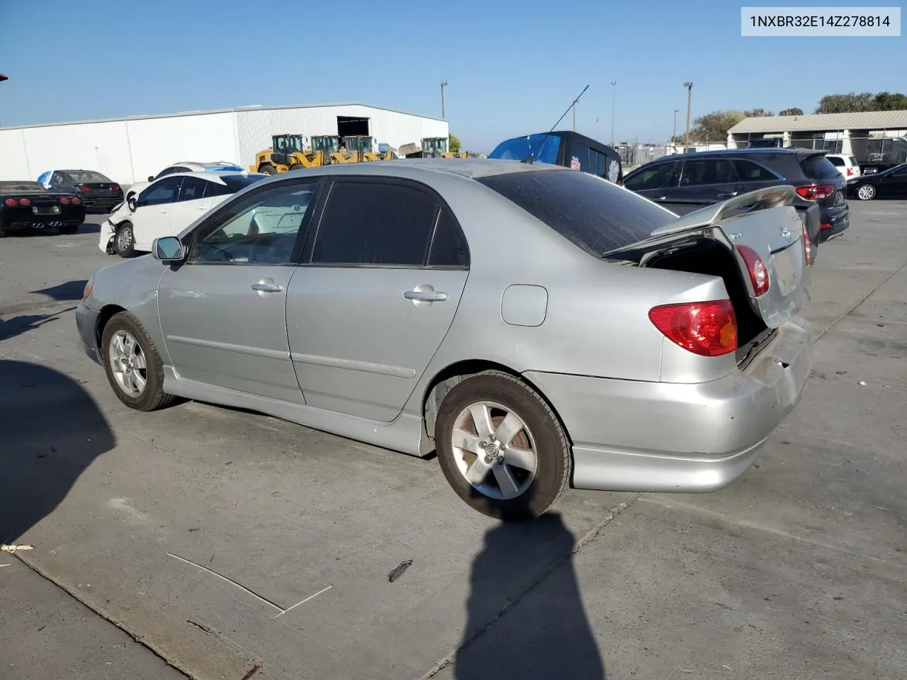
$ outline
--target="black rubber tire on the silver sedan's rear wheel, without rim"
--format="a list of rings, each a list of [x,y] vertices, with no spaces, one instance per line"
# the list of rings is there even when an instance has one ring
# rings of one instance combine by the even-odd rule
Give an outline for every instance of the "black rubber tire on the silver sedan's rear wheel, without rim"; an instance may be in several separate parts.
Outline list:
[[[458,417],[465,409],[471,404],[481,402],[506,406],[507,410],[519,416],[526,429],[532,432],[532,443],[534,444],[532,449],[534,449],[536,460],[535,476],[529,482],[528,488],[514,498],[505,500],[487,495],[467,481],[458,466],[458,457],[462,460],[465,459],[453,447],[454,427]],[[494,409],[489,413],[492,414],[492,424],[496,427],[500,421],[495,422],[495,418],[502,419],[503,416],[500,414],[495,416]],[[524,437],[523,442],[531,441],[522,430],[518,432],[518,436]],[[514,441],[516,441],[515,438]],[[450,392],[444,396],[444,401],[438,409],[434,426],[434,444],[441,470],[444,471],[444,477],[453,487],[453,491],[473,510],[478,510],[499,520],[524,521],[538,517],[561,498],[570,483],[571,445],[561,421],[551,411],[548,403],[532,387],[523,383],[519,378],[500,371],[484,371],[474,374],[453,386]],[[520,446],[520,448],[525,448],[525,446]],[[504,460],[506,460],[506,450],[504,450]],[[475,461],[479,462],[478,458]],[[493,464],[493,466],[496,465]],[[504,465],[497,467],[504,467]],[[470,469],[472,469],[471,466]],[[514,471],[520,471],[513,467],[510,467],[509,470],[512,475]],[[491,471],[489,475],[495,476]],[[528,480],[529,477],[527,476],[526,479]],[[496,481],[493,483],[497,484]]]

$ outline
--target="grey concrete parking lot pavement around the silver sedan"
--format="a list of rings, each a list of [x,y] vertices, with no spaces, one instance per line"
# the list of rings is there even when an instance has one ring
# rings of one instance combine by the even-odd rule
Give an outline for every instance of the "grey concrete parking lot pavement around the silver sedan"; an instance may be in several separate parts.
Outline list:
[[[202,680],[902,678],[905,216],[852,201],[819,249],[813,377],[741,480],[571,491],[519,526],[434,460],[204,403],[127,409],[73,320],[120,261],[103,216],[0,239],[0,539],[34,546],[0,562]],[[140,676],[125,640],[104,643],[110,677]],[[64,676],[44,663],[10,676]]]

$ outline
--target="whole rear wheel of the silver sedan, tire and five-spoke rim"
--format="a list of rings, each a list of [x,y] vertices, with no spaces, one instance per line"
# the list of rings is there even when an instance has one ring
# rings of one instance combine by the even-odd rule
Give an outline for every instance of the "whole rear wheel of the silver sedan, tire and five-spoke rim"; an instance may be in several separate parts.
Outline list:
[[[444,477],[473,510],[532,520],[571,476],[571,447],[557,415],[518,378],[486,371],[444,397],[434,428]]]

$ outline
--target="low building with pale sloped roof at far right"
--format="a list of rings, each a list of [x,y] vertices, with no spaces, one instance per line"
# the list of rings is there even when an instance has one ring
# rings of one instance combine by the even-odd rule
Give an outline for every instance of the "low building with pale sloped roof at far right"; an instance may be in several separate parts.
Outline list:
[[[727,131],[727,148],[781,139],[782,146],[853,155],[862,163],[907,161],[907,111],[814,113],[746,118]]]

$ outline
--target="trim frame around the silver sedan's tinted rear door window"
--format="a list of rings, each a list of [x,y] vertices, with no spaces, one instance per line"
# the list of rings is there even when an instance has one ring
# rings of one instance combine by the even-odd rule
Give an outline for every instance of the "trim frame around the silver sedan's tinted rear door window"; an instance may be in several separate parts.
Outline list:
[[[312,262],[312,255],[315,252],[315,243],[318,238],[318,233],[321,231],[321,223],[324,218],[325,208],[327,207],[327,201],[330,200],[331,193],[333,193],[334,186],[336,184],[390,184],[392,186],[405,186],[410,189],[415,189],[424,193],[428,198],[434,201],[434,223],[432,225],[432,235],[428,239],[428,243],[425,246],[425,252],[422,257],[421,265],[380,265],[380,264],[363,264],[363,263],[334,263],[334,262]],[[463,227],[460,225],[460,221],[456,218],[456,214],[451,209],[450,205],[447,203],[441,194],[438,193],[435,189],[428,186],[424,182],[418,180],[411,180],[404,177],[386,177],[379,175],[338,175],[336,177],[326,178],[326,188],[324,189],[321,199],[318,203],[317,209],[313,214],[313,219],[317,219],[314,228],[309,228],[306,244],[302,251],[302,258],[299,262],[300,267],[333,267],[333,268],[359,268],[359,269],[409,269],[414,271],[420,271],[424,269],[430,270],[453,270],[453,271],[469,271],[473,258],[472,253],[469,248],[469,239],[466,238],[465,233],[463,232]],[[432,246],[434,245],[434,237],[437,234],[438,225],[441,223],[441,215],[446,211],[448,216],[451,219],[451,224],[453,228],[458,230],[460,236],[463,238],[463,243],[466,244],[466,264],[465,265],[428,265],[428,257],[431,254]]]

